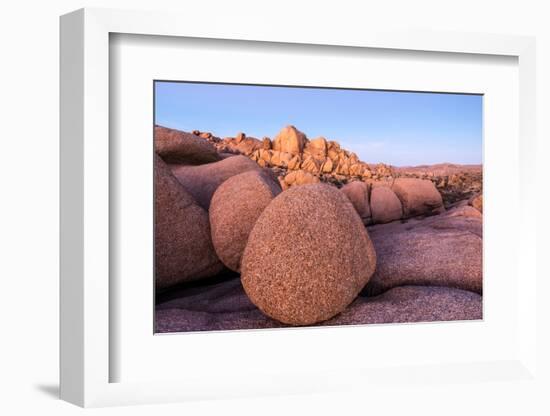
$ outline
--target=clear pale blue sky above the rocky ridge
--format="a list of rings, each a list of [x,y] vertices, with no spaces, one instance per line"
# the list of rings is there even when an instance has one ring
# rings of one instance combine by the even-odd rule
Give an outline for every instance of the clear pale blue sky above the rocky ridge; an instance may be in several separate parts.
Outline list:
[[[155,83],[155,123],[219,137],[275,137],[288,124],[338,141],[364,162],[482,162],[479,95]]]

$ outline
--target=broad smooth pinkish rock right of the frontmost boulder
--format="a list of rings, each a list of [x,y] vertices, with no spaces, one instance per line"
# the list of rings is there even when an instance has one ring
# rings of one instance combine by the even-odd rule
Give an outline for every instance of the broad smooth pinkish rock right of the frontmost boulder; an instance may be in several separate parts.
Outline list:
[[[366,293],[377,295],[404,285],[481,293],[481,227],[479,218],[448,214],[370,227],[378,263]]]

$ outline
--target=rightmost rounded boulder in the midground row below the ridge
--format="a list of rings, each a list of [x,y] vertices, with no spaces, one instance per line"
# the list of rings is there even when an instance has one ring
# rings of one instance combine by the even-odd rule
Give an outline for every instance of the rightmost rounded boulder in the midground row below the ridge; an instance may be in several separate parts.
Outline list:
[[[445,210],[441,194],[430,180],[397,178],[392,189],[403,205],[404,218],[430,215]]]

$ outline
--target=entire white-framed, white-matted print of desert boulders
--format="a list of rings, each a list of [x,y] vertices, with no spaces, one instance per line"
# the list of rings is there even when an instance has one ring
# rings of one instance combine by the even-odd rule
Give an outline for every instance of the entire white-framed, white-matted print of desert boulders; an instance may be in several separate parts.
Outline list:
[[[534,40],[186,21],[61,19],[62,398],[538,383]]]

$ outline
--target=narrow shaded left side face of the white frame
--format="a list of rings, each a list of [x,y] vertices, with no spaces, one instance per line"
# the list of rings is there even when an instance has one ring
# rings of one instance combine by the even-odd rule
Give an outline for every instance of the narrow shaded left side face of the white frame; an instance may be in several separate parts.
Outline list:
[[[60,398],[84,405],[84,10],[60,18]]]

